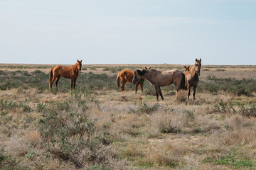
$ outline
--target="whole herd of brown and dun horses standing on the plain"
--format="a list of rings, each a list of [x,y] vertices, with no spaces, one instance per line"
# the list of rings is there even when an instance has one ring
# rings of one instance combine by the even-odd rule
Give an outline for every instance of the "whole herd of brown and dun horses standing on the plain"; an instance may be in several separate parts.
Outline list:
[[[66,67],[62,65],[57,65],[50,69],[49,77],[49,88],[52,88],[53,82],[55,81],[56,88],[58,90],[58,81],[60,77],[66,79],[71,79],[71,91],[75,89],[75,82],[78,79],[78,73],[82,69],[82,60],[71,67]],[[159,101],[159,95],[161,99],[164,100],[164,96],[161,92],[161,86],[169,86],[174,84],[176,91],[181,89],[188,90],[188,98],[191,94],[191,86],[193,86],[193,100],[196,96],[196,87],[199,81],[199,75],[201,70],[201,59],[197,60],[193,67],[184,67],[184,73],[178,69],[170,69],[166,71],[159,71],[156,69],[151,69],[151,67],[145,67],[144,69],[135,69],[134,71],[124,69],[119,74],[117,74],[117,87],[120,86],[120,81],[122,83],[121,92],[124,93],[124,85],[127,83],[136,84],[135,94],[137,94],[138,86],[141,86],[143,91],[144,80],[150,82],[156,90],[156,101]]]

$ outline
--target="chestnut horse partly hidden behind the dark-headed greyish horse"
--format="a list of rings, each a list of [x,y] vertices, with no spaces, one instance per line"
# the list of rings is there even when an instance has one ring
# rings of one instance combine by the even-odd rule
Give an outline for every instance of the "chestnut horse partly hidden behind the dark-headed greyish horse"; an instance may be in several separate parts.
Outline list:
[[[145,69],[151,69],[151,67],[145,67]],[[132,83],[133,76],[134,76],[134,72],[129,69],[123,69],[121,72],[119,72],[119,74],[117,74],[117,87],[120,86],[120,80],[122,82],[121,93],[124,93],[124,86],[127,83],[127,81],[129,83]],[[135,94],[137,94],[139,85],[141,86],[141,89],[143,91],[144,81],[145,81],[144,79],[141,79],[140,81],[137,82],[137,84],[135,86]]]

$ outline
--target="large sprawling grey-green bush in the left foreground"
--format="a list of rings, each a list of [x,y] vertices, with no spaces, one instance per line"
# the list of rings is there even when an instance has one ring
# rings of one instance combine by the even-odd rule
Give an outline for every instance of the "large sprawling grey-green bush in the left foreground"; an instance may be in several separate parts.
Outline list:
[[[48,152],[58,159],[73,162],[78,168],[90,164],[107,166],[114,155],[109,147],[109,133],[96,130],[96,119],[85,113],[43,113],[38,129]]]

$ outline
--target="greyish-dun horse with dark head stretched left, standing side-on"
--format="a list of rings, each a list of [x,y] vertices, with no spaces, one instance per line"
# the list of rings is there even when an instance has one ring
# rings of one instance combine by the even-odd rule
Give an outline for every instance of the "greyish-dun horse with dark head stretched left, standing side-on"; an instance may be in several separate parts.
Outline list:
[[[159,71],[156,69],[134,69],[134,77],[132,83],[137,84],[140,79],[146,79],[154,86],[156,90],[156,101],[159,101],[159,94],[161,99],[164,100],[164,96],[161,92],[161,86],[169,86],[174,83],[176,91],[185,89],[185,75],[178,69],[171,69],[166,71]]]

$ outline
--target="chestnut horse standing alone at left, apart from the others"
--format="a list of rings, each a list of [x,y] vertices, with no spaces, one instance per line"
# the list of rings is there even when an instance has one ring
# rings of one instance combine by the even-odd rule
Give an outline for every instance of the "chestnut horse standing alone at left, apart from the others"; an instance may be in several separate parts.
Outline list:
[[[60,77],[64,77],[66,79],[71,79],[71,91],[73,88],[75,89],[75,82],[78,79],[78,72],[82,69],[82,60],[71,67],[66,67],[62,65],[57,65],[50,69],[50,77],[49,77],[49,88],[52,88],[53,82],[55,81],[56,88],[58,90],[58,81],[60,80]]]

